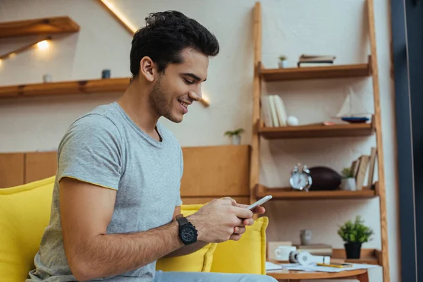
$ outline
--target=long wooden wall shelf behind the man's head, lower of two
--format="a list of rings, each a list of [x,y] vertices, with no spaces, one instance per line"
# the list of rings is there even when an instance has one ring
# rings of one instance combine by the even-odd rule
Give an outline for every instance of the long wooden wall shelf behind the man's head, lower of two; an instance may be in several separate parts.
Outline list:
[[[60,96],[65,94],[123,93],[128,87],[129,82],[130,78],[107,78],[2,86],[0,87],[0,99],[23,99],[27,97]],[[209,106],[209,102],[204,99],[200,102],[203,106]]]

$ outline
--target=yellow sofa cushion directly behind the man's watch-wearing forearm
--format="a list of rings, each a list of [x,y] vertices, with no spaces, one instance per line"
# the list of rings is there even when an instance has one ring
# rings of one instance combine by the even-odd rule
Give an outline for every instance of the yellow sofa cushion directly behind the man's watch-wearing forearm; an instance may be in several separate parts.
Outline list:
[[[184,216],[189,216],[197,212],[201,207],[201,204],[183,204],[180,207],[180,212]],[[157,261],[156,269],[162,271],[209,272],[212,268],[213,253],[216,250],[216,245],[216,243],[207,244],[190,255],[161,258]]]

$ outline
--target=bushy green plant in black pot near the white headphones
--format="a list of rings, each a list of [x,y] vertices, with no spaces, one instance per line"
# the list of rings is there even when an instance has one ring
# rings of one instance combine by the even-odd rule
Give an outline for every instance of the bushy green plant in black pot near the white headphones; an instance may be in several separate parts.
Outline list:
[[[369,242],[370,236],[373,235],[372,228],[364,225],[361,216],[355,217],[355,222],[347,221],[340,226],[338,235],[345,242],[345,253],[347,259],[360,259],[362,243]]]

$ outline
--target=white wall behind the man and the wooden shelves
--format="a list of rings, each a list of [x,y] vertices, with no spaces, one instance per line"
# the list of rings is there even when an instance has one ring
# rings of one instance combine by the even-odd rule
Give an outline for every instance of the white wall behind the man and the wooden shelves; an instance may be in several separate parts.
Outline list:
[[[223,145],[225,130],[243,127],[243,143],[251,140],[252,109],[252,8],[254,0],[243,1],[112,1],[136,26],[144,25],[147,13],[176,9],[200,20],[218,37],[221,53],[212,59],[204,92],[211,106],[192,106],[184,122],[163,121],[183,146]],[[398,186],[393,116],[393,87],[390,79],[390,21],[388,1],[375,0],[376,39],[381,88],[382,128],[385,151],[386,196],[391,281],[400,281]],[[262,0],[264,66],[276,67],[277,56],[288,56],[295,64],[300,54],[334,54],[336,63],[366,62],[369,54],[364,1],[357,0]],[[113,77],[127,77],[131,37],[97,1],[3,0],[2,21],[68,15],[80,26],[78,34],[56,35],[49,51],[25,51],[0,65],[0,85],[41,82],[44,73],[54,80],[99,78],[103,68]],[[32,39],[32,38],[31,38]],[[29,40],[0,39],[0,54]],[[300,123],[322,121],[340,109],[347,86],[372,111],[371,79],[340,79],[272,82],[264,92],[281,94],[288,114]],[[0,152],[56,149],[68,125],[98,104],[116,100],[119,93],[88,97],[6,100],[0,102]],[[363,109],[359,109],[360,111]],[[206,125],[206,126],[204,126]],[[262,140],[261,182],[270,187],[288,185],[290,168],[298,161],[309,166],[326,165],[337,171],[360,154],[369,154],[374,137],[308,140]],[[361,214],[374,228],[366,248],[381,247],[379,200],[273,201],[267,206],[271,217],[268,240],[298,242],[302,228],[312,229],[314,242],[343,247],[336,235],[339,224]],[[276,219],[277,218],[277,219]],[[382,281],[381,269],[371,271],[370,281]]]

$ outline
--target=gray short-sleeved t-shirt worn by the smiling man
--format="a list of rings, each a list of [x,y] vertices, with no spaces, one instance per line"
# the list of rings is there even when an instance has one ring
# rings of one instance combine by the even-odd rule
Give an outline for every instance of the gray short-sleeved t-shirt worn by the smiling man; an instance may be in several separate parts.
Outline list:
[[[133,233],[172,220],[180,200],[183,156],[176,137],[157,123],[161,141],[147,135],[118,103],[98,106],[78,118],[58,149],[49,226],[27,281],[76,281],[63,249],[59,181],[63,177],[114,189],[116,204],[107,233]],[[156,262],[119,276],[94,281],[152,281]]]

